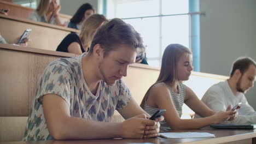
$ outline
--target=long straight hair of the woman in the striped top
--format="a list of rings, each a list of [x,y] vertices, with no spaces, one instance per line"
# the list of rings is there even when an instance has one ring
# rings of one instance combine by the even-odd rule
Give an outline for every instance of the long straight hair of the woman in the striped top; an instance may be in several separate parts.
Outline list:
[[[156,80],[156,82],[148,89],[147,93],[144,95],[144,98],[141,102],[141,107],[144,106],[145,98],[149,94],[150,89],[156,83],[164,82],[172,84],[177,80],[177,63],[179,61],[179,58],[181,58],[181,56],[185,53],[192,55],[191,50],[181,44],[170,44],[166,47],[162,56],[162,64],[158,80]]]

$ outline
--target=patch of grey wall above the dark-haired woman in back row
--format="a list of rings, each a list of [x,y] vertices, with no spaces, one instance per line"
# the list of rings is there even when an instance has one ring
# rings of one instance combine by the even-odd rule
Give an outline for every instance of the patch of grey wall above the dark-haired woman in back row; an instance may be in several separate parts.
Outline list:
[[[84,3],[90,3],[97,12],[98,1],[97,0],[60,0],[61,14],[74,15],[80,5]]]

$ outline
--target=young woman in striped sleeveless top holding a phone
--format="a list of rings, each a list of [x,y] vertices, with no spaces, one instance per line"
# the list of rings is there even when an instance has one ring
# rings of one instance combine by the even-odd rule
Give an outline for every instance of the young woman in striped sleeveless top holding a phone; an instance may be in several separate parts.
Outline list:
[[[231,111],[231,106],[227,107],[226,111],[213,111],[182,83],[189,79],[192,70],[190,49],[180,44],[170,44],[166,47],[158,80],[148,89],[141,103],[141,107],[149,115],[158,109],[166,109],[165,121],[160,122],[161,132],[199,129],[236,118],[236,110]],[[184,103],[204,118],[181,119]]]

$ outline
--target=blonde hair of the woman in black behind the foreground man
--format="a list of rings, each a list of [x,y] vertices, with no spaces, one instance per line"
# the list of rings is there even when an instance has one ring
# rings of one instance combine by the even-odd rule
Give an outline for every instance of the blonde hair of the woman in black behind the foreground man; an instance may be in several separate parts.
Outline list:
[[[93,14],[83,22],[79,38],[82,41],[85,51],[87,51],[88,47],[91,45],[95,32],[103,22],[108,22],[108,20],[104,15],[100,14]]]

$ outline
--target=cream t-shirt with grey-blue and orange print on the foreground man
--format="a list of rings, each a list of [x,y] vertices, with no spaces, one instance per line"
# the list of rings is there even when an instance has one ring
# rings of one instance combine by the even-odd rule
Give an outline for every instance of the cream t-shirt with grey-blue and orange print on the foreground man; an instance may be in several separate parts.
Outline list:
[[[46,67],[38,83],[23,141],[53,140],[43,113],[42,98],[45,94],[56,94],[65,99],[72,117],[101,122],[110,122],[114,110],[120,110],[130,102],[131,93],[122,80],[114,86],[101,81],[96,95],[90,92],[81,65],[85,55],[60,58]]]

